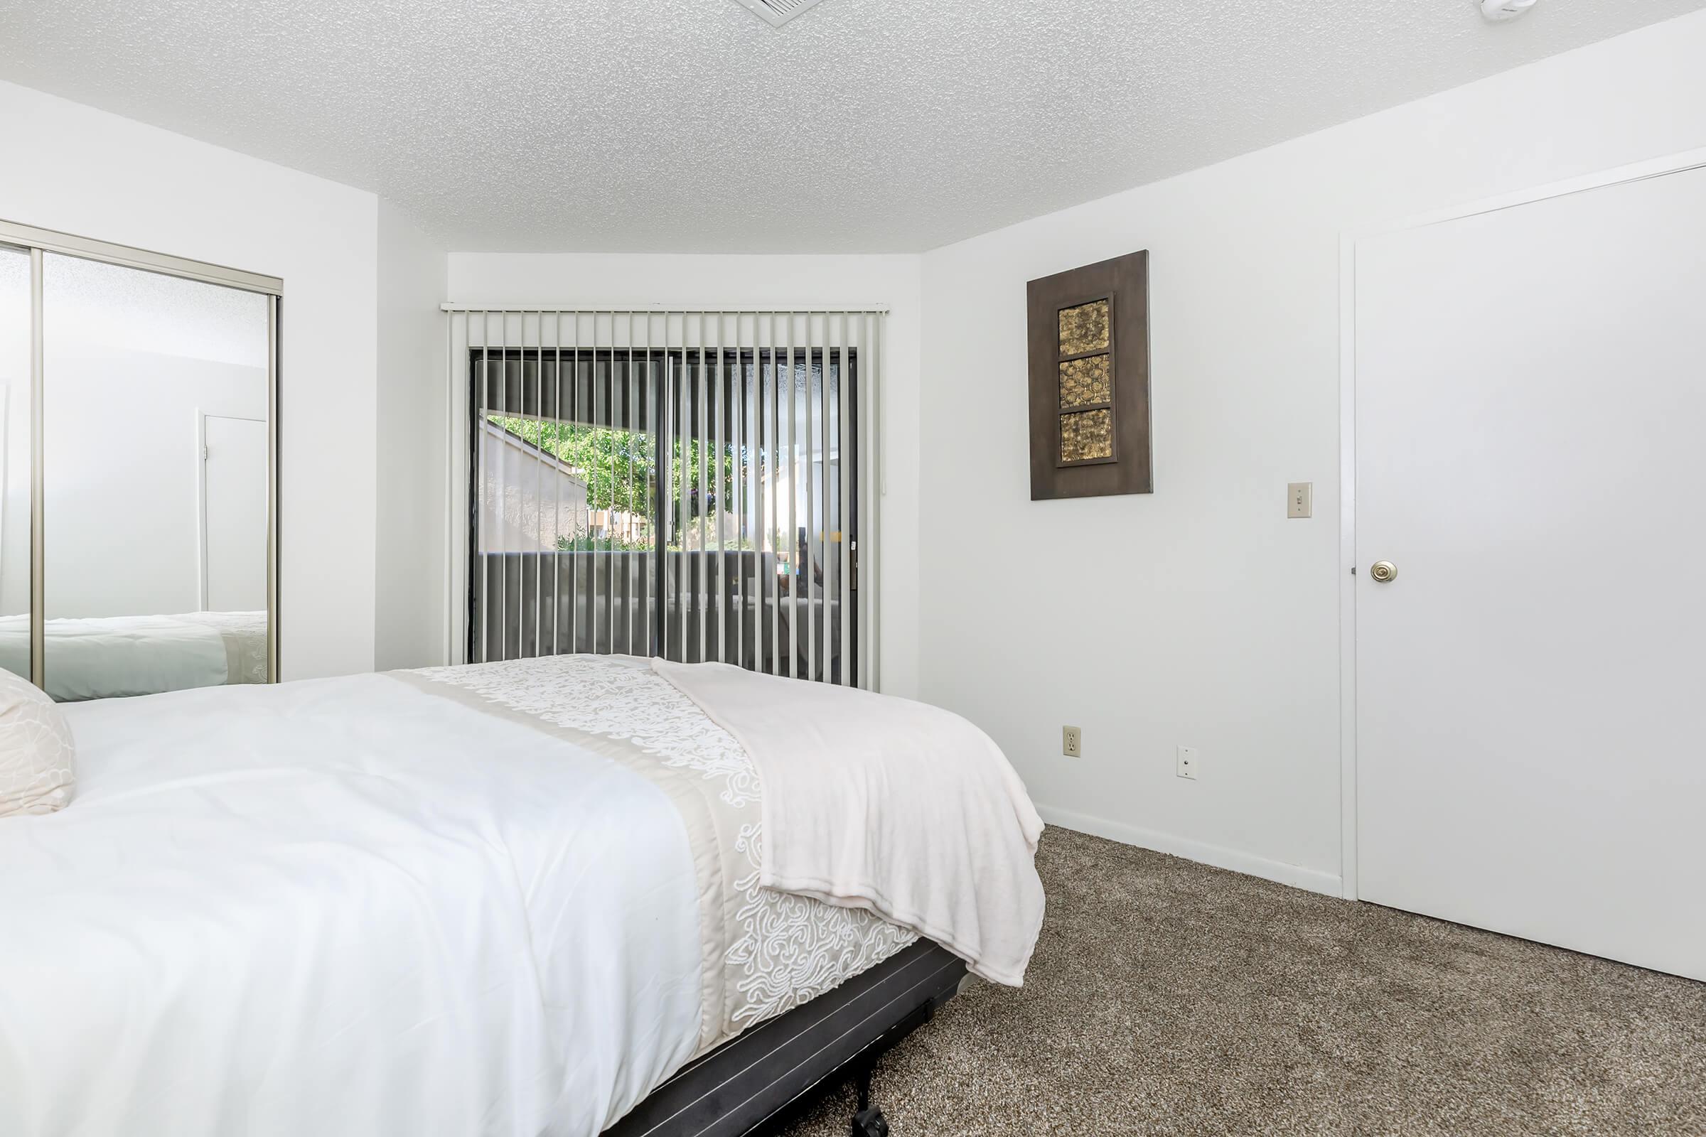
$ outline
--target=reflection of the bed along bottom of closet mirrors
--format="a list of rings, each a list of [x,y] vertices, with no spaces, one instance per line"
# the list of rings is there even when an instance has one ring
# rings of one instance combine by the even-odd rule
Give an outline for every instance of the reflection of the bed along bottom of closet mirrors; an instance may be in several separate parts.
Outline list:
[[[266,682],[266,612],[49,619],[46,687],[60,702]],[[29,617],[0,617],[0,667],[29,675]]]

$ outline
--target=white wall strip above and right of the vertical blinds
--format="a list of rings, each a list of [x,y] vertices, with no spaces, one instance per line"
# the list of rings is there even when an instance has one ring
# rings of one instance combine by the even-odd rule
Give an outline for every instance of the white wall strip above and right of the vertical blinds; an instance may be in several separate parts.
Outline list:
[[[512,307],[752,310],[885,305],[882,687],[918,690],[916,256],[450,254],[450,298]],[[440,474],[442,479],[442,474]]]

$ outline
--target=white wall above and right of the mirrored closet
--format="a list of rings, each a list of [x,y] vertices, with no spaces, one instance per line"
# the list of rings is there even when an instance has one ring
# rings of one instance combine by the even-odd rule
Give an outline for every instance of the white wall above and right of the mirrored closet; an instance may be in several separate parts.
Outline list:
[[[0,84],[0,218],[285,281],[285,678],[374,665],[377,199]]]

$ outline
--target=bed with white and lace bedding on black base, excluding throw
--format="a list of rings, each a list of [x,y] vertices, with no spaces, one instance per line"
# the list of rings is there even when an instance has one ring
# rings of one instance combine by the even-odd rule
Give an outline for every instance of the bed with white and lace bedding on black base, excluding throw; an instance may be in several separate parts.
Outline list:
[[[763,886],[761,765],[645,660],[65,714],[77,798],[0,822],[9,1137],[732,1137],[966,972]]]

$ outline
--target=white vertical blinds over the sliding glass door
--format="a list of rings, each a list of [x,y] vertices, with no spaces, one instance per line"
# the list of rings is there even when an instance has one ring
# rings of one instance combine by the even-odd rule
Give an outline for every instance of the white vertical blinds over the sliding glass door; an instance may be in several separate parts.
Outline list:
[[[449,320],[462,658],[660,655],[877,684],[863,424],[882,312]]]

